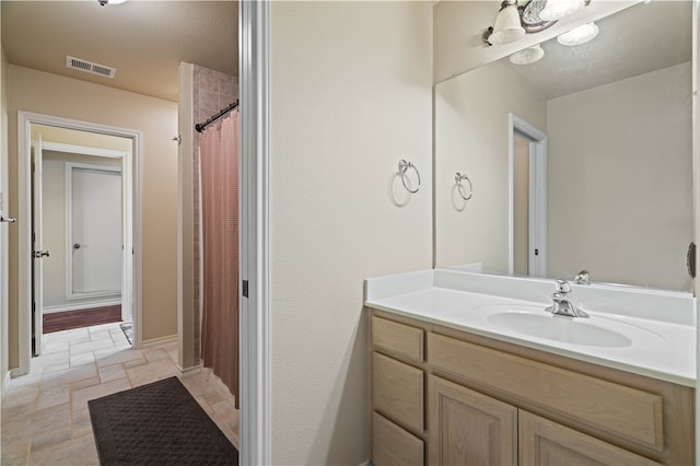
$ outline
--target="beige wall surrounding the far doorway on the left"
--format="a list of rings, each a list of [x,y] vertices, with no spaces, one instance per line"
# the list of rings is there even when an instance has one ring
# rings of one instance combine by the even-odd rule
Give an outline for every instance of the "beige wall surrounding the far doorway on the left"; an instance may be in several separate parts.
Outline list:
[[[50,91],[48,91],[50,90]],[[177,333],[177,105],[23,67],[9,72],[10,193],[16,212],[16,112],[143,131],[143,340]],[[25,221],[25,219],[18,219]],[[16,251],[16,231],[10,248]],[[18,257],[10,257],[10,365],[18,363]]]

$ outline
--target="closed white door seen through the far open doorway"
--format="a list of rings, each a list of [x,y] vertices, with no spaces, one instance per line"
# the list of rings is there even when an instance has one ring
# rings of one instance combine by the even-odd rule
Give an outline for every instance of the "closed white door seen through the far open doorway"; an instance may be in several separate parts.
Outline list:
[[[75,296],[118,295],[124,259],[121,172],[78,165],[70,170],[71,292]]]

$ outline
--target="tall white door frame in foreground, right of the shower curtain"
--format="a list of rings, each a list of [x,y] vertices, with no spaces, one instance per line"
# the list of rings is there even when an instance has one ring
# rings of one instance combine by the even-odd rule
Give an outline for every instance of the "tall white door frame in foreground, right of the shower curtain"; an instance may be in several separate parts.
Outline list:
[[[241,464],[272,463],[270,2],[238,10],[241,90]]]

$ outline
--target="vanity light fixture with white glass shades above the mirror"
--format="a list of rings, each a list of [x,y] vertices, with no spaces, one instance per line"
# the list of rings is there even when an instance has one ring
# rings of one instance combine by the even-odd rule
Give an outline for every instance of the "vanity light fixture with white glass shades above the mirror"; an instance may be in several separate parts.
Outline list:
[[[525,34],[545,31],[588,3],[591,0],[503,0],[493,27],[483,32],[481,40],[488,45],[514,43]]]

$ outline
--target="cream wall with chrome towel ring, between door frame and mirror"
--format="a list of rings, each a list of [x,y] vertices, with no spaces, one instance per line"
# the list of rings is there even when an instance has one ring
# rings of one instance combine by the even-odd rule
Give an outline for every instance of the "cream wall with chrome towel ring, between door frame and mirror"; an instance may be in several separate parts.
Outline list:
[[[362,281],[431,267],[431,40],[429,2],[271,3],[276,464],[369,458]]]

